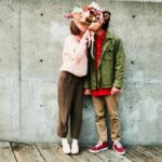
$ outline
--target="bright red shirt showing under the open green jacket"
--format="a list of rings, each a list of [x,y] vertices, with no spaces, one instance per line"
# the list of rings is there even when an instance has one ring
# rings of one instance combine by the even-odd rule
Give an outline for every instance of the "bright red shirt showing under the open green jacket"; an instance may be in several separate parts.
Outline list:
[[[103,50],[103,44],[104,44],[104,40],[106,37],[106,32],[102,32],[100,36],[95,36],[95,69],[98,68],[98,63],[100,60],[100,54],[102,54],[102,50]],[[104,96],[104,95],[110,95],[111,92],[111,87],[108,89],[97,89],[97,90],[92,90],[91,94],[93,96]]]

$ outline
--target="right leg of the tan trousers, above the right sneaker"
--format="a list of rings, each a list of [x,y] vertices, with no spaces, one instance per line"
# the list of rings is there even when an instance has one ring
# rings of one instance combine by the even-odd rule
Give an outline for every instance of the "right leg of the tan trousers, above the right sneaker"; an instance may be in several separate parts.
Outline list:
[[[105,96],[107,109],[110,117],[110,132],[111,139],[113,141],[121,140],[121,125],[119,120],[119,105],[118,105],[118,96],[109,95]]]

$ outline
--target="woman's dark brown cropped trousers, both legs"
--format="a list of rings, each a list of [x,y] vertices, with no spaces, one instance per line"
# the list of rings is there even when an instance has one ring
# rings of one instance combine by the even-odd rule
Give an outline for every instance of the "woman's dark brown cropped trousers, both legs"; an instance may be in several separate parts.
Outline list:
[[[65,138],[70,119],[71,138],[78,139],[82,123],[83,78],[62,71],[58,80],[58,136]]]

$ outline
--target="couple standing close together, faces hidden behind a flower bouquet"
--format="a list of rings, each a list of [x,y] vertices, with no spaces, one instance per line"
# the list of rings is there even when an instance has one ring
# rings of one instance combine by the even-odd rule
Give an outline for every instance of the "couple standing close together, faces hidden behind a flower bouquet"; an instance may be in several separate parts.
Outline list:
[[[90,152],[107,150],[110,145],[107,139],[107,109],[110,117],[112,148],[118,154],[125,153],[120,143],[118,106],[125,56],[122,41],[108,31],[110,13],[102,11],[102,14],[103,18],[97,23],[91,23],[89,27],[72,18],[71,35],[65,40],[58,79],[58,136],[62,137],[64,153],[79,153],[83,94],[92,96],[98,133],[98,143],[90,148]],[[71,146],[67,139],[69,118]]]

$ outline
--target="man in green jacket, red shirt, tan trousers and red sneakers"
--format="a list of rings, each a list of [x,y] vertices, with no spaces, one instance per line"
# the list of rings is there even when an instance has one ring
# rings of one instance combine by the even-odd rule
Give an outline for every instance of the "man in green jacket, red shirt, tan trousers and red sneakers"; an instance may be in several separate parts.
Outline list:
[[[105,11],[103,14],[104,18],[98,23],[98,26],[89,27],[95,32],[95,36],[94,43],[87,52],[89,68],[84,82],[84,94],[92,95],[98,133],[98,143],[90,148],[90,152],[100,152],[108,149],[107,108],[110,117],[112,148],[118,154],[124,154],[125,149],[121,145],[118,96],[122,87],[125,54],[121,39],[108,31],[110,12]]]

